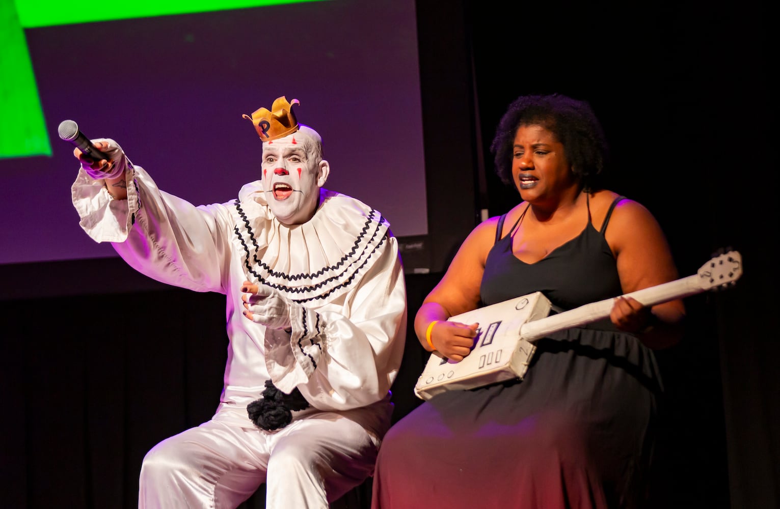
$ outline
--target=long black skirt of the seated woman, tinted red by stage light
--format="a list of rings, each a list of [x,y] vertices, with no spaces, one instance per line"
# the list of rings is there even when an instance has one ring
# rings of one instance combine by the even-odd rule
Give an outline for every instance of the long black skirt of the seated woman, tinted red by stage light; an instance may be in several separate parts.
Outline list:
[[[661,391],[633,335],[552,334],[523,380],[447,391],[399,420],[372,507],[641,507]]]

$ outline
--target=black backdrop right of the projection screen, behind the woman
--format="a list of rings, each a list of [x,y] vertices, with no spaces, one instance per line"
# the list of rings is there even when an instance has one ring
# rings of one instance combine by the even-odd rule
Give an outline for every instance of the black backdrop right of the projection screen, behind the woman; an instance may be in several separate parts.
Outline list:
[[[780,342],[773,304],[762,311],[780,218],[764,4],[466,5],[491,215],[516,203],[491,171],[498,119],[520,94],[558,91],[594,107],[610,187],[658,218],[681,277],[718,249],[743,254],[736,286],[686,299],[685,341],[658,352],[667,401],[654,507],[780,507]]]

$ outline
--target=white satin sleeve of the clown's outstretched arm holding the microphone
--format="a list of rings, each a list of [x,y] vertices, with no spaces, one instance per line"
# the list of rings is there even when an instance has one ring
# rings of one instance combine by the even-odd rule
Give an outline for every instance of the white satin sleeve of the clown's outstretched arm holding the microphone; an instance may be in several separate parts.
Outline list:
[[[124,167],[127,200],[114,200],[102,180],[83,169],[71,187],[81,228],[95,242],[112,242],[126,262],[148,277],[197,292],[225,293],[230,215],[222,205],[195,207],[158,189],[114,140],[108,155]]]

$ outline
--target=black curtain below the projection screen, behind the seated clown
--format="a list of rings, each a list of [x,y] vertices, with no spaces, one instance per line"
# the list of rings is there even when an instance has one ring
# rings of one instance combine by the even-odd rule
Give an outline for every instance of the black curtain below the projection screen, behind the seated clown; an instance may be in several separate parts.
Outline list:
[[[124,287],[146,284],[120,263],[99,264]],[[407,277],[410,306],[437,277]],[[137,507],[144,454],[214,414],[227,359],[225,296],[154,286],[58,295],[42,285],[40,297],[2,302],[3,507]],[[422,402],[413,387],[425,361],[408,334],[394,421]],[[263,495],[245,507],[264,507]],[[369,481],[333,507],[367,507],[370,495]]]

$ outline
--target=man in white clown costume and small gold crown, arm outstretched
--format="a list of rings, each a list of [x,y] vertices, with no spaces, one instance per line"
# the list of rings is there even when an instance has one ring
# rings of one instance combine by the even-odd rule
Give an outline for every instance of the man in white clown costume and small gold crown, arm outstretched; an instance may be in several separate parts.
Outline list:
[[[158,189],[114,140],[76,148],[80,225],[168,285],[226,295],[225,385],[211,420],[154,446],[139,507],[328,507],[373,474],[390,426],[406,335],[406,287],[388,221],[324,189],[322,140],[278,97],[249,119],[261,179],[229,203]]]

